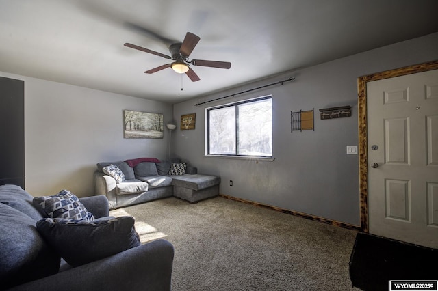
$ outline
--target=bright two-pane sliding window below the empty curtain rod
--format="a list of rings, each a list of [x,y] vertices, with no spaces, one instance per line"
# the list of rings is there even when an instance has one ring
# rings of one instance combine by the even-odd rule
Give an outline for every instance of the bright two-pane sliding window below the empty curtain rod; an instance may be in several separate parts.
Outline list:
[[[207,109],[207,154],[272,157],[272,97]]]

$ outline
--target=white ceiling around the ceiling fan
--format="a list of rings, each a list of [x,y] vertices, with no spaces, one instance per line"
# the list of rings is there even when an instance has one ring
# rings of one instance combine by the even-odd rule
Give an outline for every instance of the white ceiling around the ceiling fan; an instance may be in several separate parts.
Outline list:
[[[0,71],[175,103],[436,32],[437,12],[437,0],[0,0]],[[231,68],[192,66],[194,83],[144,74],[168,59],[123,46],[169,55],[163,39],[187,31],[201,37],[190,59]]]

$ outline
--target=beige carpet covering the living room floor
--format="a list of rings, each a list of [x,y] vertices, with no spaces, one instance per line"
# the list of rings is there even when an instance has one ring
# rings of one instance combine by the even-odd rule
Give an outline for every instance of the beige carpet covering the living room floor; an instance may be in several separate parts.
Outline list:
[[[172,290],[357,290],[356,232],[216,197],[171,197],[111,211],[132,215],[143,243],[175,247]]]

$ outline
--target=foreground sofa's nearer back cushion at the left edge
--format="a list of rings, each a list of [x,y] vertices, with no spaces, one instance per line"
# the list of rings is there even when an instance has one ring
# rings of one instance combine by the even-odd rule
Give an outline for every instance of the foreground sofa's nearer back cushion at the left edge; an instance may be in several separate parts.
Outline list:
[[[34,219],[0,203],[0,289],[53,275],[59,267],[60,256],[40,236]]]

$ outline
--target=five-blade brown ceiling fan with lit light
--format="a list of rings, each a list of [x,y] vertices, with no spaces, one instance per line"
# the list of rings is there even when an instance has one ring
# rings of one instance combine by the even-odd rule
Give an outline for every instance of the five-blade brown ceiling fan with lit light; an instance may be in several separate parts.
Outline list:
[[[228,61],[207,61],[205,59],[192,59],[189,61],[189,55],[192,53],[196,44],[198,44],[201,38],[196,36],[194,33],[188,32],[185,34],[183,42],[177,42],[175,44],[170,44],[169,51],[170,55],[164,55],[163,53],[158,53],[157,51],[152,51],[149,48],[144,48],[142,46],[137,46],[136,44],[129,44],[128,42],[124,45],[129,48],[137,49],[138,51],[144,51],[146,53],[151,53],[153,55],[158,55],[159,57],[164,57],[165,59],[172,59],[174,62],[170,64],[165,64],[151,70],[147,70],[146,74],[153,74],[165,68],[172,68],[175,72],[179,74],[187,74],[187,76],[193,82],[199,81],[198,75],[190,68],[190,64],[193,66],[203,66],[211,68],[231,68],[231,63]]]

